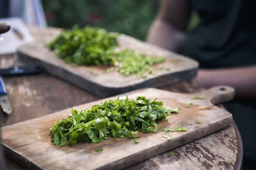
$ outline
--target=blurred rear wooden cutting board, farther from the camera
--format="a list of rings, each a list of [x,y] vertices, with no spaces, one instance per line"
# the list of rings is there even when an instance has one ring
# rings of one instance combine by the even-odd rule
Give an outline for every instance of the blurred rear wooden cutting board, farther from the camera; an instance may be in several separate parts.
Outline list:
[[[52,31],[49,34],[51,36],[46,39],[47,41],[57,36],[59,32]],[[155,74],[148,74],[147,78],[139,78],[136,74],[124,76],[118,71],[104,73],[108,67],[67,64],[45,48],[45,43],[41,41],[20,46],[17,52],[19,59],[27,64],[40,64],[48,73],[100,97],[109,97],[145,87],[166,87],[195,77],[198,68],[198,62],[193,59],[163,50],[124,34],[118,37],[118,48],[129,48],[154,57],[166,57],[165,62],[152,66]]]

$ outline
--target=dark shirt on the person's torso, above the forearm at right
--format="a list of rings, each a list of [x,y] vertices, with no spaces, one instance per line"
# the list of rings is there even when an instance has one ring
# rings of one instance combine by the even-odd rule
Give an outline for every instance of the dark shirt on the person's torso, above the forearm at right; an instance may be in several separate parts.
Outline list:
[[[200,23],[188,34],[185,55],[207,68],[256,64],[255,0],[192,2]]]

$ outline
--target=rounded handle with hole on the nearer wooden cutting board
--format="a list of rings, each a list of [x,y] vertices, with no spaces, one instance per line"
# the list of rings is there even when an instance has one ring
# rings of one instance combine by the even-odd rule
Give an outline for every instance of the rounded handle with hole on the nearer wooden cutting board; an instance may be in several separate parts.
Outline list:
[[[212,104],[225,103],[231,101],[235,97],[235,89],[227,85],[214,86],[206,90],[211,96]]]

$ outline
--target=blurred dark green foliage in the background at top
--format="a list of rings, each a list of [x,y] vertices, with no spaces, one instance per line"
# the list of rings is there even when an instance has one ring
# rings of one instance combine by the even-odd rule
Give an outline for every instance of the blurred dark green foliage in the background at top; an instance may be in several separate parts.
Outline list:
[[[159,0],[43,0],[49,25],[70,29],[92,25],[144,40]]]

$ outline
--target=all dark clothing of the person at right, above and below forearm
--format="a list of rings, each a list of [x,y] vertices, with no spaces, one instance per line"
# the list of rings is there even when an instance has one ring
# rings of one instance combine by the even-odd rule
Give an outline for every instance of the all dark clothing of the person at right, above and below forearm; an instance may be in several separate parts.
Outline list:
[[[203,68],[256,64],[256,0],[192,0],[192,5],[200,23],[188,33],[182,53]],[[256,99],[225,106],[241,133],[243,169],[256,169]]]

